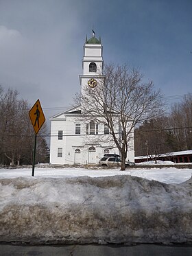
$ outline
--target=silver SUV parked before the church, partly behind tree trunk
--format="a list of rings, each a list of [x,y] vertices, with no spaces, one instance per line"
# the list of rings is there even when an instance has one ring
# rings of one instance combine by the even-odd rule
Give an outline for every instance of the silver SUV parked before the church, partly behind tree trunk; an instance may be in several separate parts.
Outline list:
[[[130,161],[125,161],[125,167],[135,165]],[[120,167],[121,158],[119,156],[104,156],[99,160],[99,166],[101,167]]]

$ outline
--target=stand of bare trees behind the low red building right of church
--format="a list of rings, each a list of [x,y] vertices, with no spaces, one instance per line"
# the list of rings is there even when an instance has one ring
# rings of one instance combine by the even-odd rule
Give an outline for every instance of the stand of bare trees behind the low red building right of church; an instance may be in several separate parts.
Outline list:
[[[192,95],[171,106],[167,117],[149,119],[135,132],[137,156],[167,154],[192,149]]]

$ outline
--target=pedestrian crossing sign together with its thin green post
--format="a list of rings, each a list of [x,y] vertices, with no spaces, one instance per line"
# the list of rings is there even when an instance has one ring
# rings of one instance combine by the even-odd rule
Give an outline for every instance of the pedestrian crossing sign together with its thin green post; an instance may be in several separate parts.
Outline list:
[[[43,113],[43,109],[40,106],[40,101],[37,100],[34,106],[32,106],[31,110],[29,110],[29,117],[32,121],[32,126],[34,127],[35,132],[35,143],[34,143],[34,152],[33,152],[33,167],[32,167],[32,176],[34,176],[35,171],[35,159],[36,159],[36,135],[38,131],[43,126],[45,122],[45,115]]]

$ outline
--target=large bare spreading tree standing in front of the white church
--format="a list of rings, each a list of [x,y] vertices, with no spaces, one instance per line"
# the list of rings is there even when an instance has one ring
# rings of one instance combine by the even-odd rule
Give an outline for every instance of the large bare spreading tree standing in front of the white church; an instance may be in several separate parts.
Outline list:
[[[163,113],[163,97],[154,89],[153,82],[143,82],[138,69],[129,69],[125,65],[106,65],[98,85],[95,88],[86,86],[77,99],[83,115],[108,126],[112,140],[121,152],[121,170],[125,170],[134,127]],[[116,127],[119,127],[118,132]]]

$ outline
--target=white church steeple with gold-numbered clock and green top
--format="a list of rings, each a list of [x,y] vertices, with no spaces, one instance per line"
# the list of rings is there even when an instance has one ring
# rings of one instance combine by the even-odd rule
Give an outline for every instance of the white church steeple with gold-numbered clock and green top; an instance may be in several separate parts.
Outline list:
[[[99,80],[103,78],[103,47],[101,38],[95,37],[93,31],[92,37],[84,44],[84,57],[82,59],[83,75],[80,75],[81,93],[84,93],[86,86],[94,89],[99,86]]]

